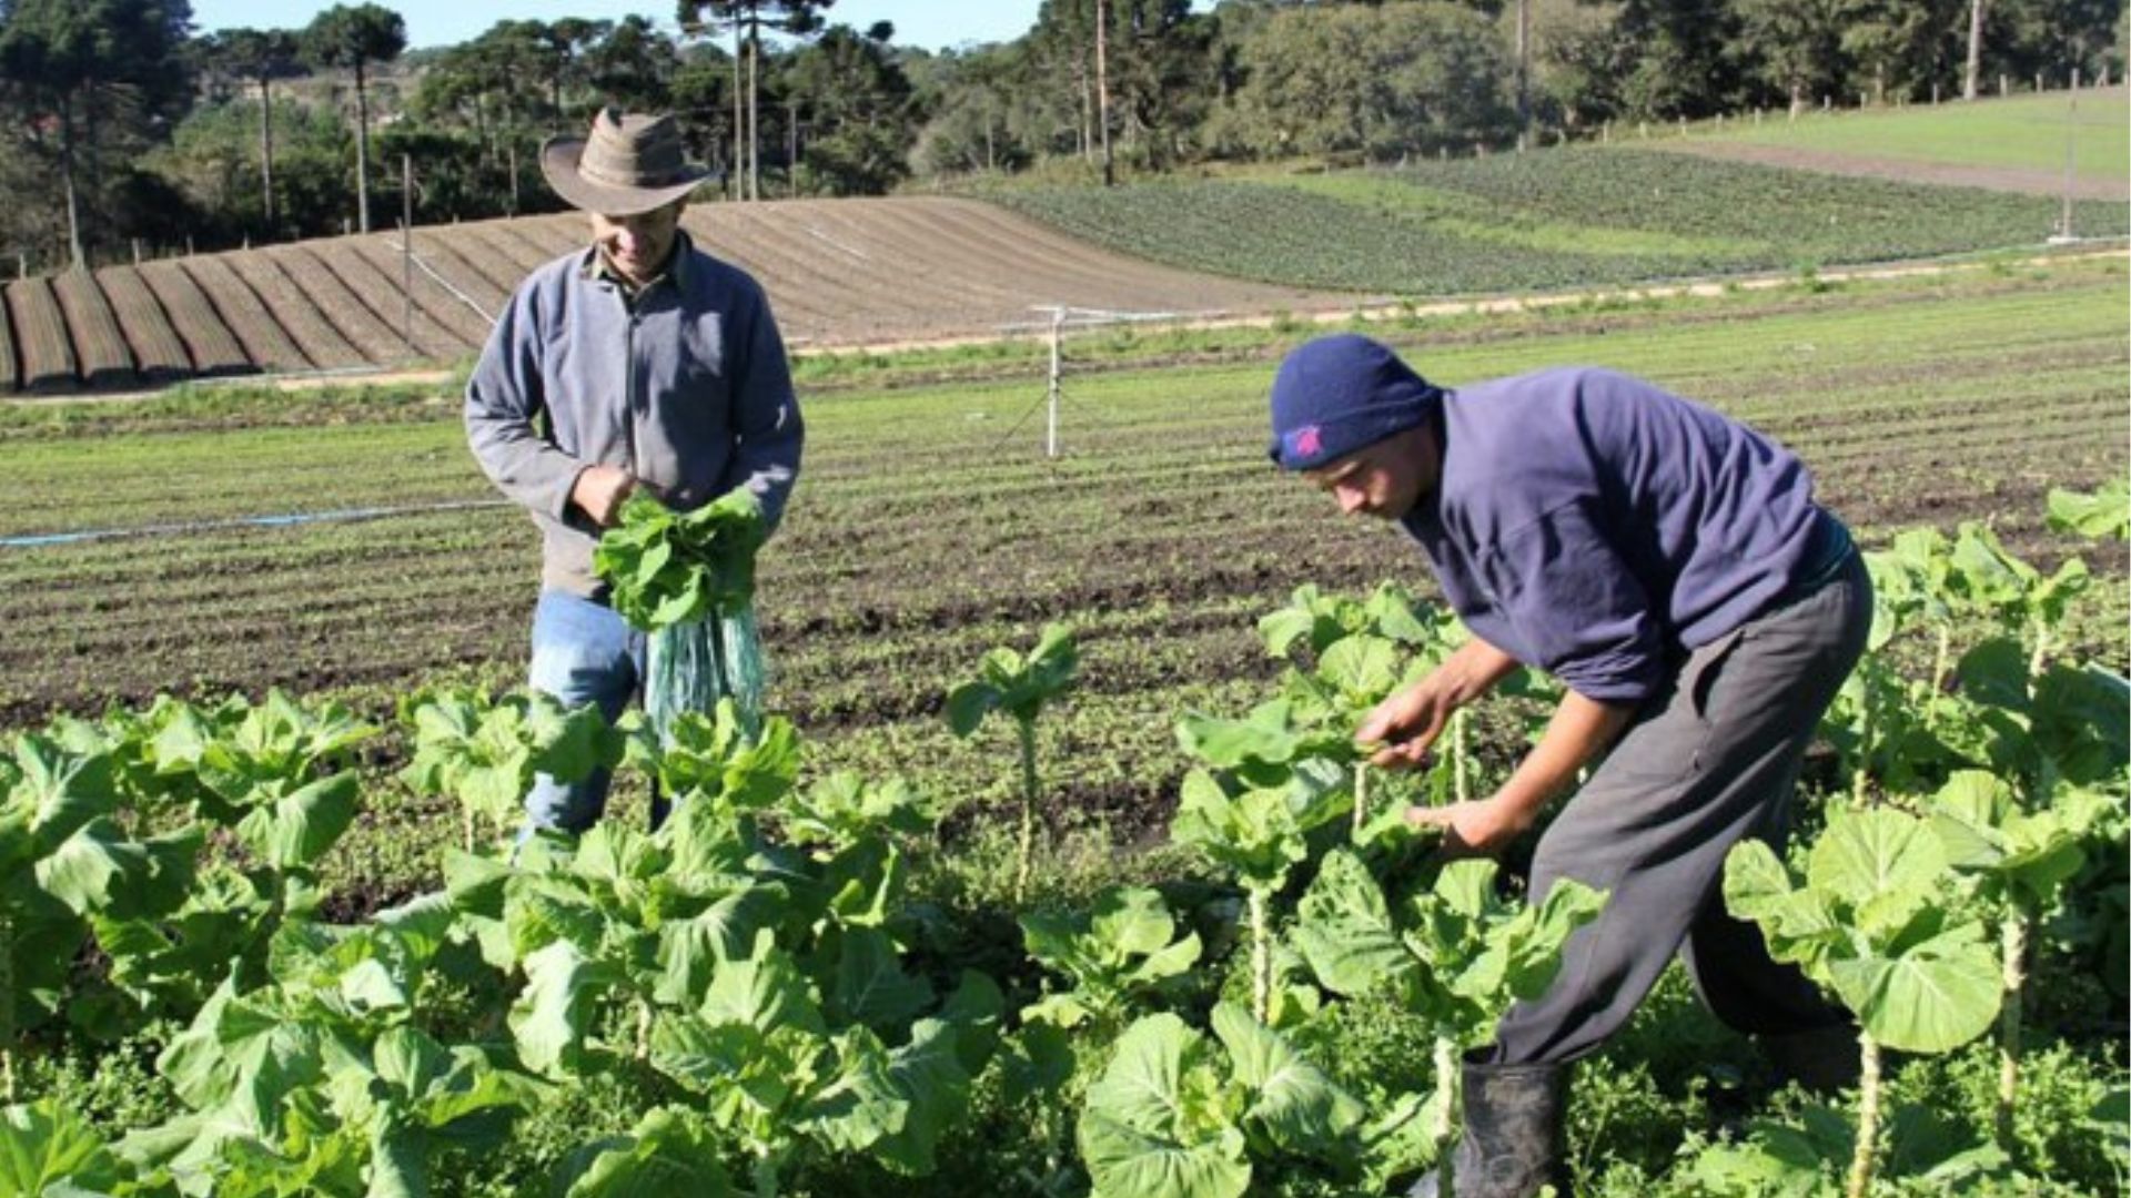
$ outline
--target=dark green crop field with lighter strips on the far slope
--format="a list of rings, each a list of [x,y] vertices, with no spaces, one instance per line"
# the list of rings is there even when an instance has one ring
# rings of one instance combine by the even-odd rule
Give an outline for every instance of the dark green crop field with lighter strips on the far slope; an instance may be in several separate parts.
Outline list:
[[[1176,266],[1421,298],[2039,247],[2059,215],[2039,196],[1626,147],[995,198]],[[2076,226],[2131,228],[2093,200]]]

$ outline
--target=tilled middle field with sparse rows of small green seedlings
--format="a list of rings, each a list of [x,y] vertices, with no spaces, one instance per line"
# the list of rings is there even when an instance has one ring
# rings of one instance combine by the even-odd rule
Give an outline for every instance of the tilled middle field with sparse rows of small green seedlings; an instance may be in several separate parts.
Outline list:
[[[2122,262],[2065,264],[1562,315],[1551,333],[1504,339],[1392,337],[1445,384],[1556,362],[1643,373],[1796,448],[1867,544],[1992,520],[2016,552],[2054,563],[2080,546],[2044,529],[2048,488],[2127,469],[2122,288]],[[1257,614],[1302,582],[1426,588],[1396,531],[1338,520],[1266,467],[1262,405],[1281,347],[1268,337],[1245,362],[1072,377],[1055,463],[1038,377],[810,396],[806,473],[759,605],[776,701],[810,735],[812,767],[1004,778],[999,746],[946,735],[940,699],[985,648],[1061,618],[1080,627],[1085,663],[1046,731],[1066,802],[1159,821],[1174,714],[1238,710],[1272,674]],[[209,524],[0,548],[0,725],[164,689],[516,680],[535,533],[503,505],[439,509],[492,499],[456,407],[332,411],[294,426],[277,426],[286,409],[224,428],[145,420],[96,437],[0,426],[0,473],[15,482],[0,537]],[[371,507],[413,512],[211,527]],[[2114,595],[2114,631],[2080,648],[2122,667],[2122,550],[2084,552]]]

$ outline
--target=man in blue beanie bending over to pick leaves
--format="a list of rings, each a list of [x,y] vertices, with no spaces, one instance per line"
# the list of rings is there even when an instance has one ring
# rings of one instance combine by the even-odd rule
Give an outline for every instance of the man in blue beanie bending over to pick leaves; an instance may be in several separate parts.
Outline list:
[[[1396,520],[1473,633],[1355,731],[1379,765],[1419,763],[1451,712],[1519,665],[1566,686],[1500,791],[1409,821],[1492,855],[1592,767],[1539,836],[1530,893],[1577,878],[1609,900],[1553,987],[1466,1057],[1458,1196],[1566,1192],[1566,1066],[1628,1021],[1673,953],[1799,1081],[1854,1072],[1845,1015],[1722,897],[1733,844],[1788,836],[1799,761],[1871,627],[1865,565],[1799,458],[1611,371],[1449,390],[1340,335],[1281,362],[1272,460],[1347,514]]]

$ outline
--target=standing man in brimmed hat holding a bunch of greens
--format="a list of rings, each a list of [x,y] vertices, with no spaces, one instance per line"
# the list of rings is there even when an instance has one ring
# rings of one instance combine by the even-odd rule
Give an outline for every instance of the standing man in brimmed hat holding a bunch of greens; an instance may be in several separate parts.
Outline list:
[[[590,136],[541,147],[541,173],[592,243],[518,286],[467,382],[467,441],[541,529],[531,684],[612,721],[644,682],[644,635],[592,576],[599,531],[637,488],[693,509],[735,486],[774,529],[803,428],[763,288],[680,228],[707,171],[671,115],[603,109]],[[541,776],[528,825],[584,831],[605,795],[605,774]]]

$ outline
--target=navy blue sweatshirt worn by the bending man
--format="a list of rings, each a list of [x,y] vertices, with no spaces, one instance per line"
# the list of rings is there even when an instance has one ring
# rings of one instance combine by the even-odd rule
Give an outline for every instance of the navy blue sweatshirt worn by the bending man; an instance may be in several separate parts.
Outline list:
[[[1443,595],[1590,699],[1649,697],[1848,546],[1788,450],[1613,371],[1445,392],[1438,433],[1443,477],[1404,527]]]

